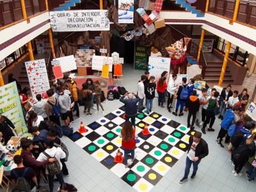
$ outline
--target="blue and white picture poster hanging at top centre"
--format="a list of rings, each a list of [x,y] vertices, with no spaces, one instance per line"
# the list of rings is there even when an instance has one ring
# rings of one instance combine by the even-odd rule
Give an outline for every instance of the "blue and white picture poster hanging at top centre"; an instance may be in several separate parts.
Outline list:
[[[118,1],[118,23],[133,23],[134,0]]]

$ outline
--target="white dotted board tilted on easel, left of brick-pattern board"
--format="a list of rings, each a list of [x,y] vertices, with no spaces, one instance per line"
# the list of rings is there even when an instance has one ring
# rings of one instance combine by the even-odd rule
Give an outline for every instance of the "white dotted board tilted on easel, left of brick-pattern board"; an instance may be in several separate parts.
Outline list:
[[[61,66],[61,71],[63,73],[70,72],[72,70],[77,69],[76,60],[74,58],[74,55],[65,56],[62,58],[56,58],[52,61],[54,61],[55,63],[59,63],[59,65]]]

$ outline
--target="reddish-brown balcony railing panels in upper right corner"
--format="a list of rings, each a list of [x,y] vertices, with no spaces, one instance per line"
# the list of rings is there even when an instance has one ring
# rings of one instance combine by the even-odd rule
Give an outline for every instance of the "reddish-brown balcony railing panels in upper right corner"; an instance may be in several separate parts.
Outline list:
[[[210,0],[209,12],[233,19],[236,0]],[[241,0],[237,20],[256,26],[256,1]]]

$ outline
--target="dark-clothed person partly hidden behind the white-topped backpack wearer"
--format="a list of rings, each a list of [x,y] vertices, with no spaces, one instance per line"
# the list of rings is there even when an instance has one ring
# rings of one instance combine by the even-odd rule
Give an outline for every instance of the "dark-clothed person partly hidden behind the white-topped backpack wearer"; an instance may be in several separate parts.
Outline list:
[[[64,143],[61,142],[60,138],[57,137],[57,133],[54,130],[50,130],[50,131],[47,132],[47,139],[53,140],[54,141],[54,145],[57,144],[60,147],[61,147],[61,145],[64,144]],[[67,148],[66,145],[65,145],[65,147]],[[61,149],[63,150],[62,147],[61,147]],[[63,150],[63,151],[65,152],[65,150]],[[65,153],[65,154],[66,154],[66,158],[67,158],[67,153]],[[62,174],[64,176],[68,177],[69,173],[68,173],[67,165],[65,164],[65,159],[60,159],[60,162],[62,163],[62,170],[61,170]]]

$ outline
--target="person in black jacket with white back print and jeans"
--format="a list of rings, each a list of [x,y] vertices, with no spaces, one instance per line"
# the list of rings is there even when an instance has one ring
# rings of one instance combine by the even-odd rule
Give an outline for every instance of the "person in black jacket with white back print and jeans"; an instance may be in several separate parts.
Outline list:
[[[154,82],[155,77],[151,76],[149,78],[149,83],[145,84],[147,114],[149,114],[152,111],[153,100],[155,98],[156,83]]]

